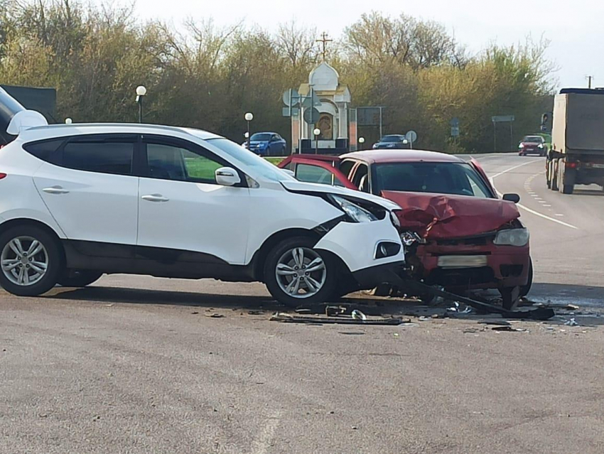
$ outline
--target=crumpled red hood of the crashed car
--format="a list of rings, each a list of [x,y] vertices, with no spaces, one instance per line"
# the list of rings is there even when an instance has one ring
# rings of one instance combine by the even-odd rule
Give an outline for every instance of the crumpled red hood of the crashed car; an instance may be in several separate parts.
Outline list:
[[[401,205],[401,227],[424,238],[472,237],[520,217],[517,206],[507,200],[398,191],[382,191],[382,196]]]

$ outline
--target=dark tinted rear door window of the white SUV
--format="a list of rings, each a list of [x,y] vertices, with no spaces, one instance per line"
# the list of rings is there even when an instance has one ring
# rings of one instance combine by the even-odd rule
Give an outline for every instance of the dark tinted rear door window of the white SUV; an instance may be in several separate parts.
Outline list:
[[[95,173],[132,174],[134,140],[77,139],[63,147],[63,167]]]

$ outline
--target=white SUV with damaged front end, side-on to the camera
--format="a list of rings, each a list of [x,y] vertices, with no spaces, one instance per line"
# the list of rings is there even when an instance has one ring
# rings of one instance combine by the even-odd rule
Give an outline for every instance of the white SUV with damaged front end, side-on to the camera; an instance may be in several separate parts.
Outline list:
[[[21,128],[0,148],[0,285],[102,274],[262,281],[319,303],[404,261],[388,200],[300,183],[232,141],[141,124]]]

